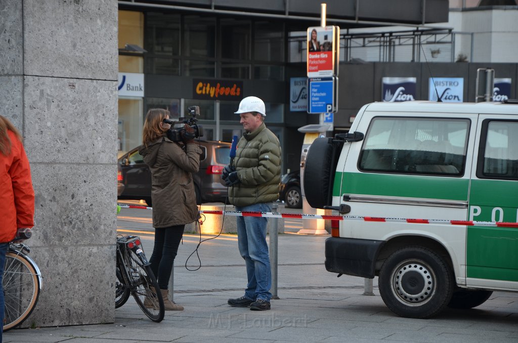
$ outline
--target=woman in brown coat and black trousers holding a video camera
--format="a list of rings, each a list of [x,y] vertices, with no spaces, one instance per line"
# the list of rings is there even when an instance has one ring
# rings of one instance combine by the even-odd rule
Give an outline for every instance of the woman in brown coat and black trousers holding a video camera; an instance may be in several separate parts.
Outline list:
[[[142,132],[143,145],[138,151],[151,170],[155,228],[153,253],[149,260],[151,269],[164,298],[165,309],[181,311],[182,306],[168,299],[167,286],[185,224],[198,218],[191,173],[199,169],[202,150],[192,139],[184,139],[183,144],[169,140],[166,132],[171,125],[164,123],[164,119],[169,119],[168,110],[153,108],[148,111]],[[194,132],[189,125],[184,127],[186,132]],[[145,305],[153,306],[151,302]]]

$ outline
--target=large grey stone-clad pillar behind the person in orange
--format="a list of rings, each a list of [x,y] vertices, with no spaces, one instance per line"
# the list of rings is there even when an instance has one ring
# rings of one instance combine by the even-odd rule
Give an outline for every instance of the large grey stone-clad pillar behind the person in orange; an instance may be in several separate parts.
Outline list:
[[[22,325],[113,322],[116,0],[0,0],[0,114],[24,137],[44,289]]]

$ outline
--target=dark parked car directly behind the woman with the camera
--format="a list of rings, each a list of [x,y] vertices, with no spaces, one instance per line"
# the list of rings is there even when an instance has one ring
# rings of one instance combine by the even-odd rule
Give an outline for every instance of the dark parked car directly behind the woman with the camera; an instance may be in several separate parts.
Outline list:
[[[196,141],[198,142],[198,141]],[[221,172],[230,163],[230,143],[221,141],[200,140],[202,155],[197,173],[193,173],[196,202],[225,202],[227,189],[220,183]],[[128,151],[119,158],[121,182],[124,190],[118,199],[144,199],[148,206],[151,203],[151,172],[138,147]],[[171,199],[174,200],[174,199]]]

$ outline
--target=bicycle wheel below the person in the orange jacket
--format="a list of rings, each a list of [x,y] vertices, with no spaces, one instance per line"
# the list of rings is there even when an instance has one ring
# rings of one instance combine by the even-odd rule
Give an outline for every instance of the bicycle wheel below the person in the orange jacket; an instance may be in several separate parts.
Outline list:
[[[3,287],[5,332],[20,325],[38,302],[40,290],[38,274],[24,255],[7,252]]]

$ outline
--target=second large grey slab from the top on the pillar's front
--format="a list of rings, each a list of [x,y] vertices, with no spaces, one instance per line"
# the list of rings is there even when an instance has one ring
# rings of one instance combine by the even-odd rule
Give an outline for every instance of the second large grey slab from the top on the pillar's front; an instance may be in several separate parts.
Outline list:
[[[116,163],[117,81],[26,76],[31,162]]]

